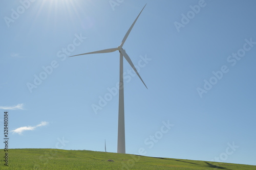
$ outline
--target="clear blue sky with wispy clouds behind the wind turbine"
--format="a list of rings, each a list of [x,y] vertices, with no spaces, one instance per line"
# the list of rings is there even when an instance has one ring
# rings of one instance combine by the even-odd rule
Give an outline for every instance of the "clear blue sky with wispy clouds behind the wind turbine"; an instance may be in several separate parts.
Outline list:
[[[119,53],[67,56],[117,47],[145,4],[123,46],[148,87],[124,60],[126,153],[256,165],[252,0],[1,1],[10,148],[117,152]]]

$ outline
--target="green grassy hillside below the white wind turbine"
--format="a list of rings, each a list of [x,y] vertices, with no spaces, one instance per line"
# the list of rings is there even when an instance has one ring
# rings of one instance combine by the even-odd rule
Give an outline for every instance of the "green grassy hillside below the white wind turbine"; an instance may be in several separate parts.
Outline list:
[[[57,149],[8,150],[6,167],[3,149],[0,156],[0,169],[256,169],[253,165]]]

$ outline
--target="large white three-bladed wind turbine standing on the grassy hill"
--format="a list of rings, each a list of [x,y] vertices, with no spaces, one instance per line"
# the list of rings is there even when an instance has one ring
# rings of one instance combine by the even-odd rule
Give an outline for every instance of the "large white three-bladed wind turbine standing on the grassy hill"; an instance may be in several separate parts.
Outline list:
[[[146,6],[146,5],[145,5]],[[143,9],[145,8],[145,6],[143,7]],[[74,55],[74,56],[80,56],[80,55],[87,55],[87,54],[97,54],[97,53],[111,53],[111,52],[115,52],[115,51],[119,51],[120,53],[120,79],[119,79],[119,107],[118,107],[118,136],[117,136],[117,153],[123,153],[125,154],[125,132],[124,132],[124,101],[123,101],[123,57],[126,59],[126,61],[132,66],[132,68],[134,69],[134,71],[136,72],[136,74],[138,75],[138,77],[140,78],[140,80],[142,81],[142,83],[145,85],[145,83],[143,82],[143,80],[141,79],[139,72],[137,71],[137,69],[135,68],[132,60],[130,59],[130,57],[126,54],[126,52],[123,50],[123,44],[125,42],[125,40],[127,39],[127,37],[129,36],[131,30],[133,29],[133,26],[135,25],[135,22],[137,21],[137,19],[139,18],[141,12],[143,11],[143,9],[140,11],[139,15],[137,16],[137,18],[135,19],[135,21],[133,22],[132,26],[130,27],[130,29],[127,31],[127,33],[125,34],[125,36],[123,37],[123,40],[121,42],[121,44],[116,47],[116,48],[109,48],[109,49],[105,49],[105,50],[100,50],[100,51],[95,51],[95,52],[90,52],[90,53],[84,53],[84,54],[78,54],[78,55]],[[70,56],[70,57],[74,57],[74,56]],[[146,85],[145,85],[146,87]],[[147,87],[146,87],[147,88]]]

